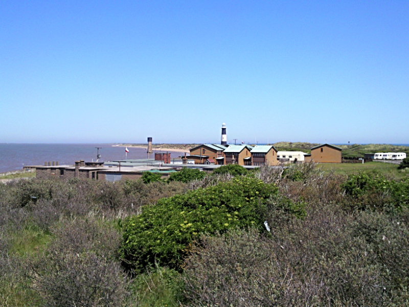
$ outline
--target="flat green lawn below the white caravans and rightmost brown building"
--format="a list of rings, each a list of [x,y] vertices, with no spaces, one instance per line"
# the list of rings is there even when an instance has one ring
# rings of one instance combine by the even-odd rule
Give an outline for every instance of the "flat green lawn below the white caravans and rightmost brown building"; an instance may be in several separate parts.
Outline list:
[[[377,170],[389,177],[400,179],[408,176],[409,172],[398,169],[399,164],[367,162],[367,163],[319,163],[318,166],[324,171],[334,169],[336,173],[348,174],[360,170]]]

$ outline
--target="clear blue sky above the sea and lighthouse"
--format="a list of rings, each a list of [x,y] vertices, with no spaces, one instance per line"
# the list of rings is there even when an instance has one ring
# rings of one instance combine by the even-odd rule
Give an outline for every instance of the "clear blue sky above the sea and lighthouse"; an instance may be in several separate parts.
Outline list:
[[[409,143],[408,1],[1,1],[0,142]]]

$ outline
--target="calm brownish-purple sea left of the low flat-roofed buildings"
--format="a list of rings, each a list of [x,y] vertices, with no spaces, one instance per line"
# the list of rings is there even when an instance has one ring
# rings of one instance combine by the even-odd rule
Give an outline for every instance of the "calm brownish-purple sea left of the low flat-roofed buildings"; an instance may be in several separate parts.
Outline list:
[[[100,161],[125,159],[125,147],[112,144],[0,144],[0,172],[22,169],[25,165],[44,165],[46,161],[58,161],[60,165],[71,165],[77,160],[95,161],[95,147],[102,147]],[[146,149],[128,149],[128,159],[147,158]],[[171,152],[172,158],[182,155],[183,152]]]

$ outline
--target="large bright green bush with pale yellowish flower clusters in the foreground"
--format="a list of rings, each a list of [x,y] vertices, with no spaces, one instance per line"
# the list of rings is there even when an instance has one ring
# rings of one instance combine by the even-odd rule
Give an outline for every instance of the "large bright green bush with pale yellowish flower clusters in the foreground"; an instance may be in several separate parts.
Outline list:
[[[205,189],[159,200],[142,214],[123,223],[121,257],[133,268],[143,269],[158,261],[180,270],[189,246],[201,233],[223,233],[248,226],[264,229],[263,207],[275,185],[249,177],[237,177]]]

